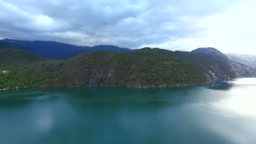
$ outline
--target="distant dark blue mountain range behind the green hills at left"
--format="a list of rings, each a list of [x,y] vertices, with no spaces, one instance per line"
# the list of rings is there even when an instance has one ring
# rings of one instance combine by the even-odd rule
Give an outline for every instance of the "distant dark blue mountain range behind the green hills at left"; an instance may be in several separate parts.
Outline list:
[[[44,59],[66,60],[88,51],[131,51],[128,48],[119,48],[113,45],[76,46],[66,43],[51,41],[28,41],[3,39],[0,41],[0,48],[16,48],[22,51],[29,51]]]

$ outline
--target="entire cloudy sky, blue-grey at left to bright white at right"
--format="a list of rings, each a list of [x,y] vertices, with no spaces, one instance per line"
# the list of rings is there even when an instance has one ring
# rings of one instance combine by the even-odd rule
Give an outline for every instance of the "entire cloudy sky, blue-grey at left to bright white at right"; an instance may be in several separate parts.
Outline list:
[[[256,54],[255,0],[0,0],[0,39]]]

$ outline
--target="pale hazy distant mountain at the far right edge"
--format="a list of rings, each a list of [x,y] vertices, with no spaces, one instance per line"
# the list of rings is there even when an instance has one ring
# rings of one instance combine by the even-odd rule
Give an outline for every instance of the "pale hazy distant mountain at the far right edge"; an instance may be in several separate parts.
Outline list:
[[[256,55],[235,54],[235,53],[226,53],[225,55],[232,61],[256,68]]]

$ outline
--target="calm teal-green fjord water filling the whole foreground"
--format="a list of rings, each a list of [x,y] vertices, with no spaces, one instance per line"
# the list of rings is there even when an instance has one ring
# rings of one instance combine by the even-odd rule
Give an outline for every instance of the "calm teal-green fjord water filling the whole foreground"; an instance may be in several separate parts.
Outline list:
[[[0,92],[2,144],[256,144],[256,79]]]

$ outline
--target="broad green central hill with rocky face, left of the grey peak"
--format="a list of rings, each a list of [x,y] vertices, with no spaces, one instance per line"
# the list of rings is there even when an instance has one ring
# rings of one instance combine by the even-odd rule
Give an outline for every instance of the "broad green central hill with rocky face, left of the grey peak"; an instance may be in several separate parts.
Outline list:
[[[158,48],[83,53],[66,61],[59,75],[60,84],[69,86],[155,87],[201,84],[211,79],[203,67]]]

